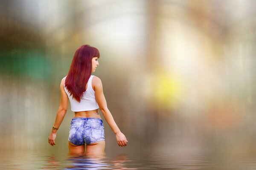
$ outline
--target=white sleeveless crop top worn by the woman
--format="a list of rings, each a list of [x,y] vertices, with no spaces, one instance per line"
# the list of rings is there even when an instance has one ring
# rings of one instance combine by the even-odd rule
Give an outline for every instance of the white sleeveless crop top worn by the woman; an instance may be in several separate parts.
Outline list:
[[[70,96],[70,93],[68,92],[67,88],[65,87],[66,77],[64,77],[64,90],[66,91],[66,94],[70,100],[71,111],[74,111],[74,112],[92,111],[92,110],[96,110],[99,108],[99,105],[95,99],[95,91],[93,90],[93,87],[92,87],[93,75],[91,75],[88,80],[86,93],[83,94],[83,97],[81,98],[80,103],[78,101],[76,101],[75,98],[73,99],[73,96]]]

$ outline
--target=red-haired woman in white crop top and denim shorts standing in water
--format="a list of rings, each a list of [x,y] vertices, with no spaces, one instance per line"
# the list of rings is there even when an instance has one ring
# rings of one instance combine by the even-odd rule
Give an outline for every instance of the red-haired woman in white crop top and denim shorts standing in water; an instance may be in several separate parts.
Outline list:
[[[117,144],[126,146],[128,141],[108,110],[101,79],[91,75],[99,65],[99,56],[99,50],[90,45],[82,45],[76,50],[68,75],[61,80],[61,102],[49,136],[52,146],[55,145],[56,132],[67,113],[68,100],[71,111],[75,112],[68,138],[70,153],[84,153],[85,144],[87,153],[104,152],[104,125],[98,108],[116,134]]]

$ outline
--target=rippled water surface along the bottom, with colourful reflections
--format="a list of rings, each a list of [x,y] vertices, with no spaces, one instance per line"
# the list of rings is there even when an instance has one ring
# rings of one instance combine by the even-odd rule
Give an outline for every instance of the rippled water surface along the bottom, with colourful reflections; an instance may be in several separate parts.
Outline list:
[[[256,169],[254,156],[211,157],[160,153],[70,155],[1,153],[4,170],[245,170]]]

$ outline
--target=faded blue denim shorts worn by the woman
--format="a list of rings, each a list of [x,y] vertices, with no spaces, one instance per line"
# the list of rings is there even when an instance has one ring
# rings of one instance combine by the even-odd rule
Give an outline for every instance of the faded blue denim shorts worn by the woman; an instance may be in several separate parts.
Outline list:
[[[102,119],[75,117],[70,123],[68,141],[75,145],[92,144],[105,140]]]

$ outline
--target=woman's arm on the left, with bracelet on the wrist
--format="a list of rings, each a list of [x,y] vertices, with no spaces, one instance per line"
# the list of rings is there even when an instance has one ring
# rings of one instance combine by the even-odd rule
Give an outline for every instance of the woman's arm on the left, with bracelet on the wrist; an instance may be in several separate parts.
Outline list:
[[[56,119],[54,122],[54,127],[56,127],[57,129],[60,127],[61,122],[63,121],[66,113],[67,113],[67,105],[68,105],[68,96],[64,90],[64,79],[61,80],[61,85],[60,85],[60,89],[61,89],[61,102],[56,114]],[[56,132],[57,129],[53,129],[52,128],[52,132],[50,133],[50,136],[48,138],[48,142],[50,145],[55,145],[55,138],[56,138]]]

